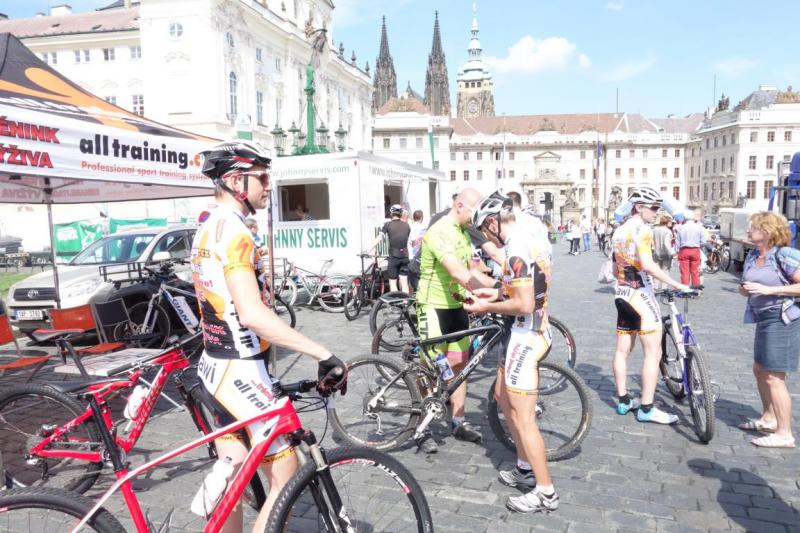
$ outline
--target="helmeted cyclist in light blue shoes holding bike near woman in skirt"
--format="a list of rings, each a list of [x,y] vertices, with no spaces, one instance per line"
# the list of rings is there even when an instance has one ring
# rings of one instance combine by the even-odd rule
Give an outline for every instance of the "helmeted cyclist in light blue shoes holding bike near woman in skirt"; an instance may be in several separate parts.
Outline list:
[[[614,381],[619,402],[617,413],[636,409],[640,422],[673,424],[678,417],[653,406],[658,365],[661,361],[661,310],[653,293],[652,279],[682,291],[689,287],[674,281],[653,260],[653,230],[650,224],[661,209],[661,195],[650,187],[634,189],[628,202],[631,217],[614,231],[611,248],[617,278],[614,304],[617,307],[617,348],[614,353]],[[641,402],[627,389],[627,360],[639,336],[644,351]]]

